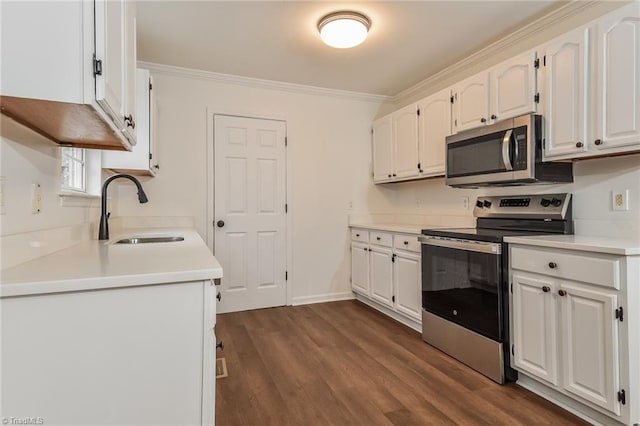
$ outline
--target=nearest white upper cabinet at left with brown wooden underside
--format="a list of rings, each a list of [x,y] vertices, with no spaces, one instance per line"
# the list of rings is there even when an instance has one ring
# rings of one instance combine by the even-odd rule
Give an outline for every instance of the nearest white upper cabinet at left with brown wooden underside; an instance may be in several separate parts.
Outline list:
[[[65,146],[131,149],[134,4],[3,4],[2,113]]]

